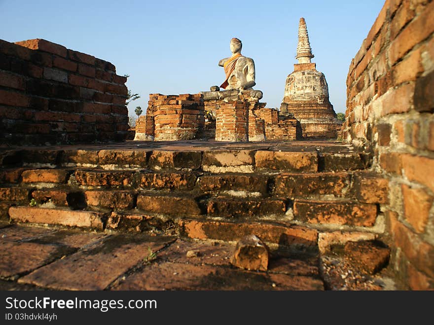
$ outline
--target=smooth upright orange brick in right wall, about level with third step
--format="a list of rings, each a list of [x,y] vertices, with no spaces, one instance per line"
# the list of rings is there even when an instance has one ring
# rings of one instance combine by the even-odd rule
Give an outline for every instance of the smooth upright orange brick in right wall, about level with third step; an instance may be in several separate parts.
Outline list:
[[[434,198],[422,188],[401,185],[404,198],[404,218],[418,233],[423,233],[430,217]]]

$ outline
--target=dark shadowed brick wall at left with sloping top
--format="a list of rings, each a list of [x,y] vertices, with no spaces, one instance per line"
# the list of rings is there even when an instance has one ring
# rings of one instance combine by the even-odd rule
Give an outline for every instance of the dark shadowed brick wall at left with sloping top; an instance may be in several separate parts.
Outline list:
[[[62,45],[0,40],[0,142],[124,140],[125,82],[111,63]]]

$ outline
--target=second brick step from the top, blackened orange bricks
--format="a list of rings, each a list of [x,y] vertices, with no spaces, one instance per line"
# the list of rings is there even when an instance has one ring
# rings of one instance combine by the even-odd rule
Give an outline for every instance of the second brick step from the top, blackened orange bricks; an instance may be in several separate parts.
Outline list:
[[[84,192],[91,188],[191,191],[194,195],[327,198],[347,197],[366,203],[388,202],[388,181],[368,171],[210,174],[191,171],[102,169],[6,169],[0,170],[0,188],[63,189]],[[367,190],[369,188],[369,190]],[[1,200],[8,194],[1,192]],[[10,195],[9,195],[10,196]],[[35,198],[36,199],[36,198]]]

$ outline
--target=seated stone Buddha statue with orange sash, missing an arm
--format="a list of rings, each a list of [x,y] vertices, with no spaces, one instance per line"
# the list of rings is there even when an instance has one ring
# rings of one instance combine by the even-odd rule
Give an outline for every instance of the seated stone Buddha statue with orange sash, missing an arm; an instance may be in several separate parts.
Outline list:
[[[226,90],[250,90],[256,84],[254,82],[254,62],[251,58],[241,55],[243,44],[238,38],[230,41],[232,56],[221,59],[218,66],[224,68],[226,78],[220,88]]]

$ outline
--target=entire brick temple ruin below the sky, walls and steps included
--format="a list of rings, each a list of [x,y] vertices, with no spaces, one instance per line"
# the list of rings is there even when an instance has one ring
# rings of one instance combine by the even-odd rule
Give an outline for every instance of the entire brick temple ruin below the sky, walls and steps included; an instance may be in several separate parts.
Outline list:
[[[146,141],[125,141],[111,63],[0,40],[0,287],[434,289],[433,15],[433,1],[385,2],[349,67],[343,141],[294,141],[304,118],[266,108],[249,78],[151,94]],[[331,134],[300,26],[290,76],[322,84],[310,111]]]

